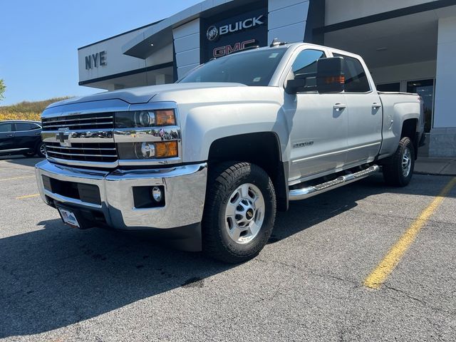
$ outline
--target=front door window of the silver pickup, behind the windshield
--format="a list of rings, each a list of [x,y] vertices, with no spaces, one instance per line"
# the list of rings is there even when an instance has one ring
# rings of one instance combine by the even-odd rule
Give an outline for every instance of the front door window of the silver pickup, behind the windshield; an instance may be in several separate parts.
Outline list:
[[[305,78],[304,91],[316,90],[316,61],[326,58],[326,54],[320,50],[304,50],[299,53],[291,67],[294,78]]]

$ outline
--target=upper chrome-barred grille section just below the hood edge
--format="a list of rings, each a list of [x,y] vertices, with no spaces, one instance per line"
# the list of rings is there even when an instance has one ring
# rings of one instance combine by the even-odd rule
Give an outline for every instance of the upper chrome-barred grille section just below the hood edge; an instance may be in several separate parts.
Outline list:
[[[43,118],[43,130],[98,130],[114,128],[114,113],[99,113],[90,115],[67,115],[56,118]]]

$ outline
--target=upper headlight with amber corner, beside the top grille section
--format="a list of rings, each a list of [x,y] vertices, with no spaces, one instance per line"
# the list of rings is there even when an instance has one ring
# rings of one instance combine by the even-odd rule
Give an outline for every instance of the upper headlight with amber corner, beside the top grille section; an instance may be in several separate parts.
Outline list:
[[[176,125],[174,110],[138,110],[115,113],[115,128],[145,128]]]

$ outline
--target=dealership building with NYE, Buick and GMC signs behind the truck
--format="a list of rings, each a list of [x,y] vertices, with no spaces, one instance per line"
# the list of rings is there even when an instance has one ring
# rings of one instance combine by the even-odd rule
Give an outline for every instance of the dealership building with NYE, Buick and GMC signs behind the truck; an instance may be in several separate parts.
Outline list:
[[[211,58],[274,38],[363,56],[378,90],[423,97],[422,153],[456,156],[456,0],[205,0],[79,48],[79,85],[172,83]]]

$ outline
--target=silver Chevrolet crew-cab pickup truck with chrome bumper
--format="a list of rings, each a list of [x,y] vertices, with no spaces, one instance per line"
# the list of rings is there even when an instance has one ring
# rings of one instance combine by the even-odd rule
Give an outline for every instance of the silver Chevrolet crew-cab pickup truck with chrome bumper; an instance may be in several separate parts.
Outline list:
[[[226,262],[255,257],[276,209],[382,170],[413,175],[417,94],[379,93],[360,56],[274,41],[174,84],[50,105],[44,202],[66,224],[156,233]]]

